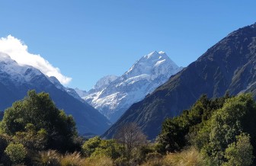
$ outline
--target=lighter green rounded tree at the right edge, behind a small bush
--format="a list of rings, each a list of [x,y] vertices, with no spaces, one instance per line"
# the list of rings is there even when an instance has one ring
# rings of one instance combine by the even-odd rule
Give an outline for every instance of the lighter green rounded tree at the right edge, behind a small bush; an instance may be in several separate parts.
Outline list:
[[[256,104],[250,94],[232,97],[198,130],[194,143],[214,163],[229,162],[226,148],[236,142],[236,136],[246,132],[255,139],[255,116]]]

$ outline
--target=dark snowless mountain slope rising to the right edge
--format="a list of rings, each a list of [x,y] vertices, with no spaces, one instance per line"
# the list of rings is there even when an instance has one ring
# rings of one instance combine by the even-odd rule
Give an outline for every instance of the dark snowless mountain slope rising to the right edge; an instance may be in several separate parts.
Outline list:
[[[144,100],[133,104],[105,132],[111,138],[127,122],[138,123],[149,139],[155,139],[163,120],[188,109],[201,94],[220,97],[256,89],[256,24],[235,30],[178,72]]]

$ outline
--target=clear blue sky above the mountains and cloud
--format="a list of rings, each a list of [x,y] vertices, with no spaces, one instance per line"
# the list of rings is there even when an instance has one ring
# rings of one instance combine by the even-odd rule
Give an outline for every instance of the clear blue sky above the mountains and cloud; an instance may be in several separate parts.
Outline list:
[[[69,87],[88,90],[122,75],[154,50],[186,66],[239,27],[256,22],[256,1],[0,0],[0,37],[24,41]]]

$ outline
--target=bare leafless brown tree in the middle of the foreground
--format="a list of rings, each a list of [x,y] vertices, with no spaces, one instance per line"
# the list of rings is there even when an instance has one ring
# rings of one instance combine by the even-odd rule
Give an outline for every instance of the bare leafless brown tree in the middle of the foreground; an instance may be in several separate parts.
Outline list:
[[[123,145],[128,161],[130,161],[134,149],[146,144],[146,136],[136,123],[127,123],[122,126],[114,138]]]

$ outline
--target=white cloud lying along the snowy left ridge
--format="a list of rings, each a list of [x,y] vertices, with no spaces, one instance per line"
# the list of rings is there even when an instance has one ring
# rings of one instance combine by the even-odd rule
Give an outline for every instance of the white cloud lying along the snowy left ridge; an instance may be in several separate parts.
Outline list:
[[[62,75],[59,68],[51,65],[42,56],[28,53],[27,45],[11,35],[0,39],[0,52],[7,53],[20,65],[32,65],[45,75],[55,76],[63,85],[67,85],[72,80],[72,78]]]

